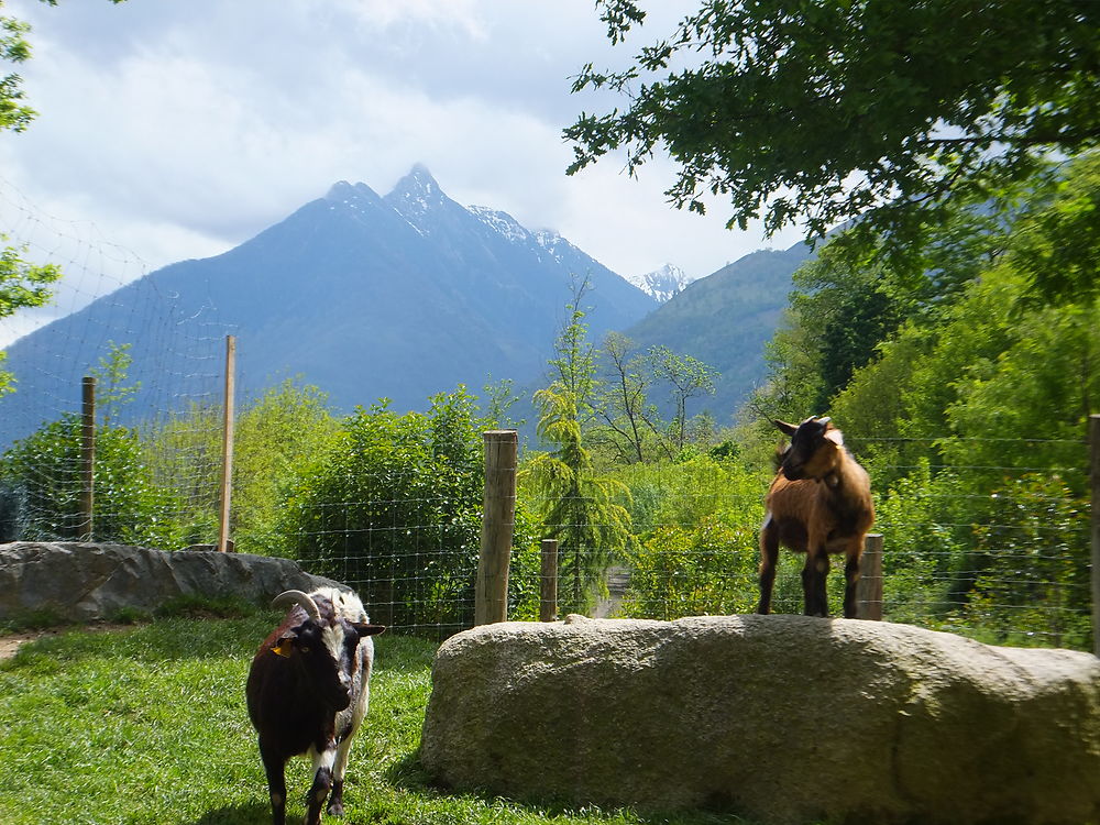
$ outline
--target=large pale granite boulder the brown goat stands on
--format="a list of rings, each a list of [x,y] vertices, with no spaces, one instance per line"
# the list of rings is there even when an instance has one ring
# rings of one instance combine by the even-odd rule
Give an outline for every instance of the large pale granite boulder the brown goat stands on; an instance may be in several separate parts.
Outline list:
[[[439,649],[441,783],[765,823],[1100,822],[1100,660],[805,616],[504,623]]]

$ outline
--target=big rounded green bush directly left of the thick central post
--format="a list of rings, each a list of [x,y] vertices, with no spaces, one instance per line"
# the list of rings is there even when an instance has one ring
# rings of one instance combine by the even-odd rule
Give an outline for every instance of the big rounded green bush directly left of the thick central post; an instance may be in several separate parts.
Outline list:
[[[475,414],[461,387],[427,414],[360,408],[286,501],[286,551],[355,587],[383,624],[472,625],[484,490]]]

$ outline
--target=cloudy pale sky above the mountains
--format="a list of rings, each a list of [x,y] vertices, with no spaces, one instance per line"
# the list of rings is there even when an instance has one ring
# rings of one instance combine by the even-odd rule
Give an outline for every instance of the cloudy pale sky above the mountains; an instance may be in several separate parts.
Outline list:
[[[18,72],[40,114],[0,133],[0,231],[64,246],[61,290],[87,299],[232,249],[338,180],[384,195],[421,163],[460,204],[556,230],[622,275],[702,277],[789,246],[794,230],[726,230],[722,202],[676,210],[662,156],[636,178],[614,155],[565,175],[562,130],[625,102],[570,78],[629,65],[696,2],[649,6],[613,47],[593,0],[6,0],[33,26]],[[24,312],[0,346],[64,311]]]

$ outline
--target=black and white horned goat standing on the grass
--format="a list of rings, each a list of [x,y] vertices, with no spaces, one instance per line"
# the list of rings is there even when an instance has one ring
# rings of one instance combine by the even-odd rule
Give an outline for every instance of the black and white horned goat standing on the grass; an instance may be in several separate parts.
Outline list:
[[[260,734],[274,825],[286,822],[286,762],[308,754],[314,760],[306,825],[328,813],[343,814],[343,778],[352,736],[366,715],[375,634],[353,593],[322,587],[292,590],[275,597],[289,606],[283,623],[256,651],[245,685],[249,717]]]

